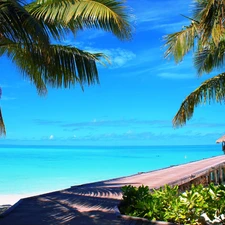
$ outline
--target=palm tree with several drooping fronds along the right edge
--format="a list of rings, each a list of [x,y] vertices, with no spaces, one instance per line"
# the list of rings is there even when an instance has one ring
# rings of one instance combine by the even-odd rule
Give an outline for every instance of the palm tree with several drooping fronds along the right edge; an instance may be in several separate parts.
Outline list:
[[[222,68],[225,56],[225,1],[195,0],[190,25],[183,30],[165,37],[167,50],[165,57],[173,57],[180,62],[194,50],[194,66],[201,76],[214,68]],[[173,119],[175,127],[186,124],[194,113],[194,108],[212,100],[225,100],[225,73],[206,80],[182,102]]]

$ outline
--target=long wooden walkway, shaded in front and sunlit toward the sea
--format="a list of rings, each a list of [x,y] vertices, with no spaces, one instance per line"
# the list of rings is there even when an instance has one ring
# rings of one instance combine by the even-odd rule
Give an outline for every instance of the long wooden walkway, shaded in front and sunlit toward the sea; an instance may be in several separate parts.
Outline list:
[[[225,163],[225,155],[20,200],[0,218],[0,225],[144,225],[143,220],[118,216],[116,206],[124,185],[157,188],[191,178]]]

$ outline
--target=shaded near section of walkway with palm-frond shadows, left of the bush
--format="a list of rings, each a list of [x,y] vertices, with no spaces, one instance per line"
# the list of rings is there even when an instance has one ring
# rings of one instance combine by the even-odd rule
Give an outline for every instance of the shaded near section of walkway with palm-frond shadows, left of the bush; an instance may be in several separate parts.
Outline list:
[[[115,211],[122,197],[121,187],[124,185],[126,184],[109,184],[103,181],[25,198],[11,212],[0,218],[0,224],[130,224],[130,219],[118,216]]]

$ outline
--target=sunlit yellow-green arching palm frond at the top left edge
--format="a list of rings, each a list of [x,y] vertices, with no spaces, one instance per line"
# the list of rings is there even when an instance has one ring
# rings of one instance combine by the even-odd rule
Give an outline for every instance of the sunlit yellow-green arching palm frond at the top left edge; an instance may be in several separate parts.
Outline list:
[[[68,28],[75,32],[84,28],[100,28],[112,32],[122,40],[131,38],[130,14],[123,4],[115,0],[38,0],[26,9],[38,20],[44,21],[53,36],[57,27],[63,32]]]

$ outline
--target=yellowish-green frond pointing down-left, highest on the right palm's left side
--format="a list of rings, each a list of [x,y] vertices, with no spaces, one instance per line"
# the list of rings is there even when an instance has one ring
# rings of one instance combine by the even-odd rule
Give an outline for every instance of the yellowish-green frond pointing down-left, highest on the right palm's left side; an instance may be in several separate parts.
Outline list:
[[[180,32],[165,36],[165,58],[174,57],[176,63],[180,62],[195,44],[195,38],[198,35],[198,23],[192,22]]]

